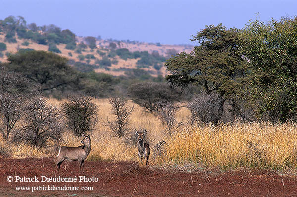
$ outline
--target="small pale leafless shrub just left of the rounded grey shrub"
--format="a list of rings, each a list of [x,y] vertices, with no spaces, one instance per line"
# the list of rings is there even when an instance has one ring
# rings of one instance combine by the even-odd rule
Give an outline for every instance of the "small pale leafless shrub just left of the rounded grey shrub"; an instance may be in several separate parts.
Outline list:
[[[167,102],[166,104],[160,103],[159,105],[161,107],[158,111],[158,117],[167,126],[168,132],[171,134],[172,129],[181,124],[176,120],[176,113],[180,109],[180,105],[172,102]]]

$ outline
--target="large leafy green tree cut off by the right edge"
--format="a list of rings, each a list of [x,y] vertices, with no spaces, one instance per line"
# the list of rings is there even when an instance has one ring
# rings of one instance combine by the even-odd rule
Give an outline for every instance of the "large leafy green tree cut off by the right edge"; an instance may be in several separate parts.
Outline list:
[[[297,17],[251,20],[240,36],[253,67],[252,94],[258,114],[285,122],[297,115]]]

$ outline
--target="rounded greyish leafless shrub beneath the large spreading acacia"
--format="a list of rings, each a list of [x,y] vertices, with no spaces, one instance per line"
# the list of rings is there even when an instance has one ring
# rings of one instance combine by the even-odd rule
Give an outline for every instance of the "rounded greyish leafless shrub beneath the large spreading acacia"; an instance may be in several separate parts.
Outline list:
[[[188,102],[186,107],[191,112],[191,124],[197,122],[217,124],[223,113],[223,101],[216,94],[199,94]]]

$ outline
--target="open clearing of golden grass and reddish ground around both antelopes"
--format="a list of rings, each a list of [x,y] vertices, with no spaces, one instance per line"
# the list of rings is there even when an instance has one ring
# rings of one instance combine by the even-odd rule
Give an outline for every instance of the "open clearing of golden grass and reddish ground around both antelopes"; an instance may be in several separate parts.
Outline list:
[[[48,102],[59,106],[63,101],[49,99]],[[134,104],[131,132],[118,138],[106,126],[106,119],[114,118],[108,100],[94,102],[99,105],[99,122],[91,134],[92,150],[85,172],[78,172],[76,162],[64,162],[58,172],[53,147],[17,146],[1,139],[1,149],[5,150],[0,165],[1,195],[60,194],[16,192],[15,186],[26,184],[7,182],[7,176],[15,175],[98,177],[99,182],[85,184],[94,186],[93,192],[77,193],[90,196],[95,193],[101,196],[297,195],[296,124],[234,123],[202,127],[187,123],[189,112],[182,107],[177,121],[183,124],[169,134],[161,120]],[[139,163],[134,129],[148,131],[145,139],[151,148],[148,167]],[[62,145],[81,145],[81,139],[70,132],[63,138]],[[155,146],[162,140],[166,144],[156,152]],[[26,186],[34,185],[30,184]],[[68,196],[70,193],[76,194],[69,192]]]

